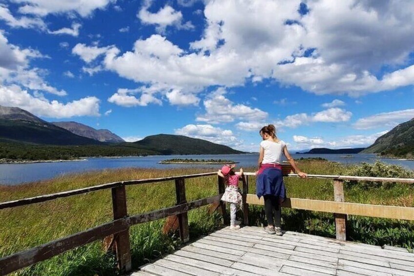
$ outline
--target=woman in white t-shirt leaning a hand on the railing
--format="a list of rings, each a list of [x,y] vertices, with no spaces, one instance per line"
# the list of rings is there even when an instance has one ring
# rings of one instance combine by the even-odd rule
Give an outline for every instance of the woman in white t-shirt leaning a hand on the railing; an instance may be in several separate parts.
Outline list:
[[[285,155],[290,165],[301,178],[308,175],[296,166],[290,156],[285,142],[277,139],[276,128],[273,125],[262,127],[260,135],[263,141],[260,143],[259,170],[256,171],[256,194],[265,200],[265,212],[268,226],[264,230],[268,234],[282,235],[280,204],[286,199],[286,189],[282,175],[282,155]],[[273,212],[274,219],[273,221]]]

